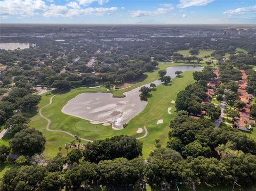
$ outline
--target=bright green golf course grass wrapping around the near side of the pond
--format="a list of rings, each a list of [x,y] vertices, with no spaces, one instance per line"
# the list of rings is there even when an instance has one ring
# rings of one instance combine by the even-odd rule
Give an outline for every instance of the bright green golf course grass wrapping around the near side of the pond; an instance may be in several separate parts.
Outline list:
[[[148,104],[140,114],[131,119],[128,126],[123,130],[113,130],[110,126],[102,126],[101,124],[91,124],[89,121],[66,115],[61,112],[62,107],[73,97],[84,92],[102,91],[106,92],[105,87],[90,89],[88,87],[79,87],[71,89],[67,93],[62,93],[53,98],[51,105],[42,110],[43,115],[49,118],[52,123],[50,129],[65,130],[76,134],[78,137],[88,138],[91,140],[104,139],[115,135],[130,135],[141,137],[145,134],[137,134],[136,131],[140,127],[146,126],[148,136],[141,139],[143,142],[143,156],[147,157],[151,150],[155,149],[155,139],[160,139],[162,146],[165,146],[168,139],[169,123],[174,118],[175,105],[171,104],[172,100],[176,99],[180,90],[185,89],[188,84],[194,82],[193,71],[184,72],[183,77],[172,79],[173,84],[170,86],[159,85],[157,90],[151,92],[152,97],[148,99]],[[136,86],[137,87],[137,86]],[[128,88],[127,88],[128,89]],[[127,90],[125,89],[125,90]],[[38,108],[49,103],[53,93],[42,95],[42,101],[38,104]],[[167,112],[167,108],[172,107],[172,114]],[[158,119],[163,119],[163,124],[156,124]],[[42,119],[37,113],[31,122],[30,127],[43,132],[46,137],[45,154],[54,156],[58,153],[58,148],[64,148],[66,143],[74,140],[61,132],[50,132],[45,130],[46,120]],[[85,142],[82,142],[85,144]]]

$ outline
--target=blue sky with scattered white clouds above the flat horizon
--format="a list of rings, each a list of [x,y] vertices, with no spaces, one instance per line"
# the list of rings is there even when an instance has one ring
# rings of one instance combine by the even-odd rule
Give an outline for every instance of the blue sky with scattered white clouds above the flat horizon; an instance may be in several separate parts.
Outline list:
[[[256,0],[0,0],[1,23],[256,23]]]

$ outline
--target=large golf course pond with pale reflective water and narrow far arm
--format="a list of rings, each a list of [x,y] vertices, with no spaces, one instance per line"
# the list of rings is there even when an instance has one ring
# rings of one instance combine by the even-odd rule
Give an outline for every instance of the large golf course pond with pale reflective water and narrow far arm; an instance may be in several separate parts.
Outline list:
[[[174,78],[177,70],[184,72],[202,69],[203,67],[192,66],[169,67],[166,75]],[[161,80],[155,80],[152,83],[159,85]],[[150,83],[142,86],[149,85]],[[82,93],[70,99],[61,111],[89,121],[109,122],[113,129],[122,129],[124,123],[138,115],[147,105],[147,102],[140,100],[140,88],[125,92],[125,97],[122,98],[113,97],[110,93]]]

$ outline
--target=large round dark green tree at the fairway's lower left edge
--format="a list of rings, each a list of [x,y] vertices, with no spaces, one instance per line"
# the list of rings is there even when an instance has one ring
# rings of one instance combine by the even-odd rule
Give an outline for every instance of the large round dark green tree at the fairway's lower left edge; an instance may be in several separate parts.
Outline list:
[[[35,128],[23,129],[10,140],[10,147],[13,152],[29,156],[43,152],[44,145],[45,138],[42,132]]]

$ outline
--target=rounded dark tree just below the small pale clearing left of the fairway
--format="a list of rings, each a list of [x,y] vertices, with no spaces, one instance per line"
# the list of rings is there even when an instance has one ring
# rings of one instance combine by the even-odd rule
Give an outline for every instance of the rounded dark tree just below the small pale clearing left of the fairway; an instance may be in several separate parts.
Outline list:
[[[41,101],[41,95],[26,95],[20,100],[20,107],[22,111],[31,111],[35,109],[36,105]]]

